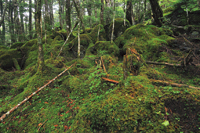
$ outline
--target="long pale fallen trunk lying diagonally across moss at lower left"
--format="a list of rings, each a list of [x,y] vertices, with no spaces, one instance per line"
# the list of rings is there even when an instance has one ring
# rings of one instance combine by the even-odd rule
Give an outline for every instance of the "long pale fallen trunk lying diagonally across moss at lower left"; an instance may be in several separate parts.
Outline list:
[[[49,85],[50,83],[52,83],[54,80],[56,80],[58,77],[60,77],[63,73],[65,73],[67,70],[69,70],[73,65],[75,65],[76,63],[72,64],[70,67],[66,68],[63,72],[61,72],[59,75],[57,75],[55,78],[53,78],[52,80],[50,80],[48,83],[46,83],[44,86],[40,87],[37,91],[33,92],[30,96],[28,96],[27,98],[25,98],[22,102],[20,102],[19,104],[17,104],[15,107],[13,107],[11,110],[9,110],[7,113],[3,114],[0,117],[0,120],[3,121],[3,119],[9,115],[11,112],[13,112],[15,109],[17,109],[19,106],[21,106],[22,104],[24,104],[26,101],[28,101],[30,98],[32,98],[35,94],[37,94],[38,92],[40,92],[43,88],[45,88],[47,85]]]

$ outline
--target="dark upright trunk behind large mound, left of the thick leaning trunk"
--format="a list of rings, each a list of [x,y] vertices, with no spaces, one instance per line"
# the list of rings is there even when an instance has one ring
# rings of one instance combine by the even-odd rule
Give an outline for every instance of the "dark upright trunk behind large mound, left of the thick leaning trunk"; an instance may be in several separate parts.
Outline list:
[[[126,9],[126,19],[130,22],[131,25],[133,25],[133,5],[132,0],[127,1],[127,9]]]

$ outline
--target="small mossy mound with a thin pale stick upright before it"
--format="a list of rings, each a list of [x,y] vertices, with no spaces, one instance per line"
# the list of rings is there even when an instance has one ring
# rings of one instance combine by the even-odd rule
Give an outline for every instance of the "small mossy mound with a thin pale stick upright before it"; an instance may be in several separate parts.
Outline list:
[[[96,43],[96,41],[105,41],[106,32],[103,25],[101,24],[96,25],[89,33],[89,36],[91,36],[93,43]]]

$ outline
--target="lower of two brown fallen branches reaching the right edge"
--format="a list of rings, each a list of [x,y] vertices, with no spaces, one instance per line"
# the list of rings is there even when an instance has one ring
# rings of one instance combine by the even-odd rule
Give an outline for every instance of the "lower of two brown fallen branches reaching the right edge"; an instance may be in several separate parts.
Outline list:
[[[194,87],[194,86],[190,86],[190,85],[186,85],[186,84],[171,83],[171,82],[167,82],[167,81],[163,81],[163,80],[154,80],[154,79],[151,79],[150,81],[153,83],[161,83],[164,85],[171,85],[171,86],[175,86],[175,87],[188,87],[190,89],[200,90],[200,88],[198,88],[198,87]]]

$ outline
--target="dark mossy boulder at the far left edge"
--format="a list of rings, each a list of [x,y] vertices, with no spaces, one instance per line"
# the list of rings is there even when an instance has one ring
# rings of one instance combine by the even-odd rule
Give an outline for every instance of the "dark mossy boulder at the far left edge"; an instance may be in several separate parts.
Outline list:
[[[23,54],[17,49],[0,49],[0,67],[4,70],[13,70],[16,63],[22,65],[22,57]]]

